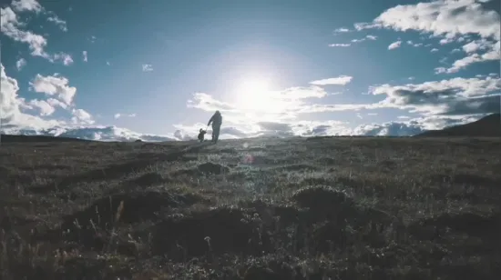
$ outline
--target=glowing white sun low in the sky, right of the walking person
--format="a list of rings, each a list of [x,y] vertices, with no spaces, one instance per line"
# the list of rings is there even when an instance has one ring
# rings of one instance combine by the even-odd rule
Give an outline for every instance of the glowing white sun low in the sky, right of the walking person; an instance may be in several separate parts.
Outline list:
[[[269,80],[262,78],[247,78],[237,87],[237,105],[248,112],[271,113],[279,108],[279,100],[271,91]]]

